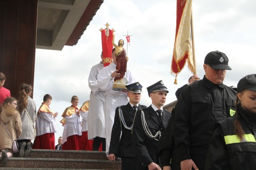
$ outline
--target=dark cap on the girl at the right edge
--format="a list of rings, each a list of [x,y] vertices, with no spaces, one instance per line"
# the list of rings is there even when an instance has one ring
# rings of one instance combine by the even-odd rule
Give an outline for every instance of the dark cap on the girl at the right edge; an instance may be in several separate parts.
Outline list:
[[[244,89],[256,91],[256,74],[249,74],[239,80],[237,84],[237,92]]]

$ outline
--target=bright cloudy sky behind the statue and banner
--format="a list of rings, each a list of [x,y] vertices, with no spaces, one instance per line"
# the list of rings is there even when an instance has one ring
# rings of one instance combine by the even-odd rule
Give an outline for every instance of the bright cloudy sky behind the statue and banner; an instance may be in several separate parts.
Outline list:
[[[197,74],[204,75],[203,61],[210,51],[224,52],[229,66],[224,84],[237,86],[247,74],[255,73],[256,2],[253,0],[195,0],[193,2],[195,54]],[[149,106],[146,87],[162,80],[168,87],[166,104],[176,100],[175,91],[192,75],[187,65],[177,77],[171,72],[171,59],[176,26],[175,0],[105,0],[76,46],[62,51],[36,49],[33,99],[37,109],[43,96],[53,97],[51,108],[58,112],[57,138],[63,128],[59,122],[73,95],[80,98],[79,107],[89,100],[88,75],[100,62],[101,34],[108,22],[116,30],[116,40],[131,36],[127,68],[143,85],[141,104]],[[117,41],[116,41],[117,42]],[[125,40],[126,47],[127,42]]]

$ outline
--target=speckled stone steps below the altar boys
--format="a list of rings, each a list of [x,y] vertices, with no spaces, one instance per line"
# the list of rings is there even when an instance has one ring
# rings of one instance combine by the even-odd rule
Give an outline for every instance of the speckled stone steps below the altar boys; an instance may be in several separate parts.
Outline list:
[[[120,162],[108,160],[105,152],[32,149],[30,156],[18,153],[8,158],[5,169],[121,169]],[[1,168],[0,168],[1,169]]]

